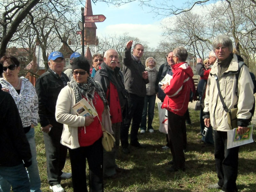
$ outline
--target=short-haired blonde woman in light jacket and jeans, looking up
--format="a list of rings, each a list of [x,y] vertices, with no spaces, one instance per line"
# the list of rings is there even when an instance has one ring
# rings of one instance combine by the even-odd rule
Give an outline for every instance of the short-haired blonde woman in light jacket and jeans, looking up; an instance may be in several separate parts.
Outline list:
[[[146,71],[148,71],[149,83],[146,84],[147,94],[144,100],[144,108],[142,112],[142,119],[140,123],[140,133],[145,133],[147,128],[147,111],[148,111],[148,131],[154,132],[152,122],[154,118],[154,109],[156,102],[156,93],[158,92],[156,60],[153,57],[148,57],[145,62]]]

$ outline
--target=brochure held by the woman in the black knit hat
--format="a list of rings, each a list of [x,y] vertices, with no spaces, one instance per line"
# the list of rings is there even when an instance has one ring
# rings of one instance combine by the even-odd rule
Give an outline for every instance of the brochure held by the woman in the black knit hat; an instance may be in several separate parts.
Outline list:
[[[86,99],[82,99],[78,101],[74,106],[72,106],[72,109],[76,111],[77,115],[80,116],[97,116],[98,113],[96,110],[90,105],[90,103]]]

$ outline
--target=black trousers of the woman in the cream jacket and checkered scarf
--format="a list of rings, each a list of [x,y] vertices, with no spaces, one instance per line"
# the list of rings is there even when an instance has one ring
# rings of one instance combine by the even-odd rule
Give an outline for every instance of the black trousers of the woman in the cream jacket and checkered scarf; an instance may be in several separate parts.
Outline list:
[[[90,146],[68,149],[72,170],[74,192],[87,192],[86,159],[89,165],[90,192],[103,192],[102,159],[103,148],[101,138]]]

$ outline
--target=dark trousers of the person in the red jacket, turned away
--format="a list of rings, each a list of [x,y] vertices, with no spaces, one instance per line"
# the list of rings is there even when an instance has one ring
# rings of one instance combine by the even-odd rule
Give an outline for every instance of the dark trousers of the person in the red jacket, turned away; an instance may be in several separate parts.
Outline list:
[[[172,153],[173,166],[185,169],[183,149],[187,143],[185,117],[168,111],[168,139]]]

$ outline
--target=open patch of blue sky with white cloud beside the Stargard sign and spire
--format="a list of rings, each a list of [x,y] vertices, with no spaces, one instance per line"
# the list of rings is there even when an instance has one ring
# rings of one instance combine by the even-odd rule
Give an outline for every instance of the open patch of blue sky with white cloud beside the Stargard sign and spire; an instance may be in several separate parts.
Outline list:
[[[160,23],[163,18],[156,17],[156,14],[150,10],[148,7],[143,7],[142,10],[137,1],[120,7],[108,6],[103,2],[92,3],[93,14],[103,14],[106,17],[105,21],[95,23],[97,35],[101,37],[128,32],[130,36],[147,41],[150,47],[156,48],[162,39]]]

